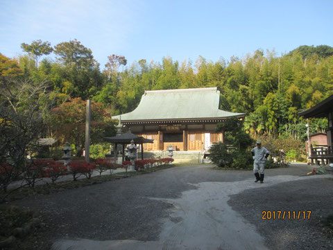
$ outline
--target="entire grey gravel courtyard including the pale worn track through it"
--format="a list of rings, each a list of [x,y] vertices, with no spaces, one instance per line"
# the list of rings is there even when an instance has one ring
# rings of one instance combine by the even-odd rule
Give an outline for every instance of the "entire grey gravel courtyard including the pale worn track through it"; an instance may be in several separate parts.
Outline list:
[[[267,169],[259,184],[249,171],[174,167],[14,203],[45,223],[24,249],[332,249],[318,226],[332,213],[332,176],[308,171]],[[313,216],[262,220],[262,210]]]

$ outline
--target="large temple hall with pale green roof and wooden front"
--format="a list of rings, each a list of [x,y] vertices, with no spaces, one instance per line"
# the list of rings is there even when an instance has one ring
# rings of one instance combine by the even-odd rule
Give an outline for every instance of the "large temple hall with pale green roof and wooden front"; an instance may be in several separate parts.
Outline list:
[[[142,95],[139,106],[130,113],[113,116],[136,135],[153,140],[143,144],[146,151],[204,151],[224,141],[224,131],[216,124],[230,117],[242,120],[244,113],[219,109],[217,88],[151,90]]]

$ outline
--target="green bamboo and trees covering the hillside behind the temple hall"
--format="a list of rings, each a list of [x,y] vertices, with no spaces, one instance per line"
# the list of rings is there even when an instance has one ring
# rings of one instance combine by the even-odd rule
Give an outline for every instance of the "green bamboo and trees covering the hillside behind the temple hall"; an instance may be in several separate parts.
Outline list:
[[[104,69],[77,40],[55,47],[36,40],[22,44],[22,50],[18,58],[0,54],[1,76],[12,70],[10,74],[33,82],[47,81],[56,105],[69,98],[90,98],[114,115],[134,110],[145,90],[217,86],[220,108],[247,113],[244,128],[254,136],[304,139],[307,121],[297,113],[333,94],[333,48],[325,45],[301,46],[281,56],[257,50],[216,62],[201,56],[183,62],[164,57],[161,62],[142,59],[127,65],[124,56],[105,55]],[[311,133],[326,126],[325,119],[310,121]]]

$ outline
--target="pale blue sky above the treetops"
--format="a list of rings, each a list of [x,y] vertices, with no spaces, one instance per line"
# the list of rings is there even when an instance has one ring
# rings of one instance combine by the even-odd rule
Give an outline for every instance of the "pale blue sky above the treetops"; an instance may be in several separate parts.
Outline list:
[[[243,58],[256,49],[279,56],[300,45],[333,46],[333,1],[0,0],[0,53],[20,44],[76,38],[107,62],[163,56],[182,62]]]

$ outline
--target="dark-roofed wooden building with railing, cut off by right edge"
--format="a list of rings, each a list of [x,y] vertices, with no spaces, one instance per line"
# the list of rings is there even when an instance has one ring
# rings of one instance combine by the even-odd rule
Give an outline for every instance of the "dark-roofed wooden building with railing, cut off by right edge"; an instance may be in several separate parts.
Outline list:
[[[332,96],[328,97],[327,99],[321,101],[313,108],[309,108],[304,110],[298,115],[301,115],[305,118],[324,118],[327,117],[328,119],[328,128],[326,130],[327,133],[327,147],[322,148],[311,148],[311,161],[316,160],[323,160],[329,163],[333,163],[333,94]]]

